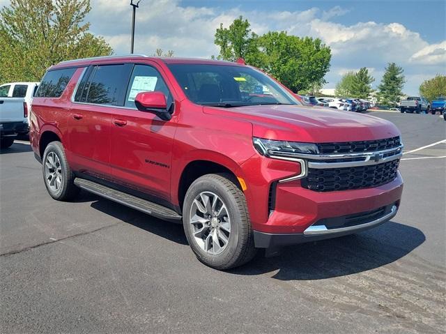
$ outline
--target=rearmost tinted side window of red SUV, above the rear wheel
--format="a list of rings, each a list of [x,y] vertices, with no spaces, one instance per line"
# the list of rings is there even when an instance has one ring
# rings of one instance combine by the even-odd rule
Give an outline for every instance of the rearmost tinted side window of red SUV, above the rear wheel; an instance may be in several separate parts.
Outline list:
[[[37,98],[59,98],[65,90],[76,68],[49,70],[36,91]]]

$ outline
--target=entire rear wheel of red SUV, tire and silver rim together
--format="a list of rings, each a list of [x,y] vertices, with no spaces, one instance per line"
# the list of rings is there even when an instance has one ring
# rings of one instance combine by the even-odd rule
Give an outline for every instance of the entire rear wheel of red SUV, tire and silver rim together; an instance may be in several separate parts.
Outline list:
[[[68,201],[79,193],[61,142],[48,144],[43,153],[42,169],[45,186],[54,199]]]

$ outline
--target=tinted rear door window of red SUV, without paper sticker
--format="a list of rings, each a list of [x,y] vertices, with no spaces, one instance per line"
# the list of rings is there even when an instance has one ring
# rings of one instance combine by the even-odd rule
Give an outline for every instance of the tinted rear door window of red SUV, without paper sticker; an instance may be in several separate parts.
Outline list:
[[[96,66],[84,87],[81,102],[98,105],[121,105],[121,94],[127,84],[124,65]]]

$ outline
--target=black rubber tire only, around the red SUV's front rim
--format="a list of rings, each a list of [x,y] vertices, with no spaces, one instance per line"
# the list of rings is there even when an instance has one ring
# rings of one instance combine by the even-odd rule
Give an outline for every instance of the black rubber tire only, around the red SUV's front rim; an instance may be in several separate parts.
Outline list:
[[[256,255],[254,235],[247,210],[245,195],[229,174],[207,174],[195,180],[187,190],[183,204],[183,226],[187,241],[199,261],[218,270],[241,266]],[[226,248],[220,254],[206,252],[194,237],[194,226],[190,222],[192,204],[203,192],[212,192],[222,199],[230,220],[231,233]],[[204,227],[204,224],[203,224]],[[208,227],[209,229],[211,227]],[[215,227],[217,229],[217,227]],[[204,240],[204,236],[201,236]],[[220,247],[220,245],[219,245]]]

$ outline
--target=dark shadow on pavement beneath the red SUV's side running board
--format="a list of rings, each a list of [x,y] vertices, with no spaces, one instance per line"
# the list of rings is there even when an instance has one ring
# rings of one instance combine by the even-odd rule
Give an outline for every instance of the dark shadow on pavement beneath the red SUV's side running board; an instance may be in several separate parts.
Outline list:
[[[82,192],[82,197],[86,192]],[[86,195],[86,196],[90,196]],[[175,222],[167,222],[165,220],[160,220],[154,218],[146,213],[139,212],[127,206],[117,204],[115,202],[109,201],[108,199],[103,199],[96,195],[91,195],[98,199],[97,201],[91,203],[91,207],[99,210],[107,215],[111,215],[114,218],[126,222],[134,227],[139,227],[148,231],[150,233],[166,238],[167,240],[174,241],[181,245],[187,245],[187,239],[184,234],[183,224],[176,224]],[[94,200],[94,199],[93,199]]]

